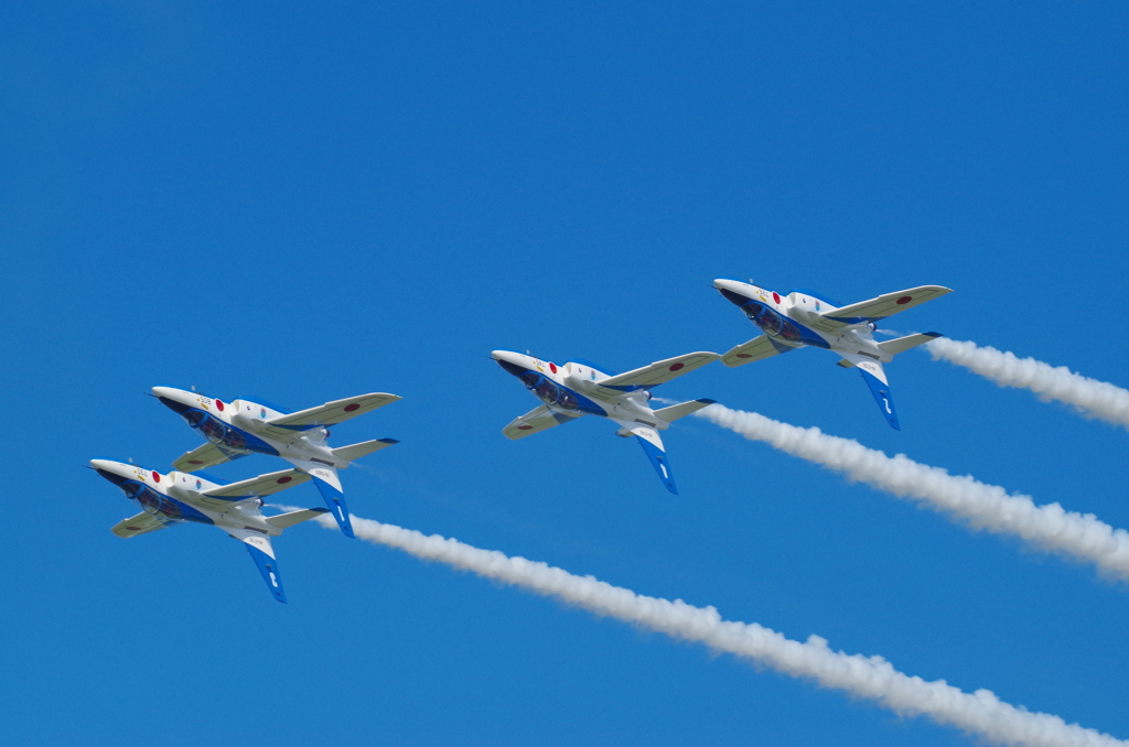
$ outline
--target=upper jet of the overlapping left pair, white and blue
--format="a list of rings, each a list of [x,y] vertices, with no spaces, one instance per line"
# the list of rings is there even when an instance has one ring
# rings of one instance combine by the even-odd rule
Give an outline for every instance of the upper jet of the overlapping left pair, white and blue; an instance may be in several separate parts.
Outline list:
[[[228,403],[172,387],[154,387],[152,394],[209,441],[174,462],[174,469],[192,473],[248,454],[282,457],[314,478],[325,504],[348,537],[353,536],[352,522],[338,469],[345,469],[355,459],[400,442],[382,438],[336,449],[326,442],[327,425],[400,399],[394,394],[362,394],[298,412],[259,397]]]

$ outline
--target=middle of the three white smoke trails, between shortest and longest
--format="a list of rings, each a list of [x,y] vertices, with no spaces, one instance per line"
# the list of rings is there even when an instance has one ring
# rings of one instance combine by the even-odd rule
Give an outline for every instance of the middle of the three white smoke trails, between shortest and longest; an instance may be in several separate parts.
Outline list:
[[[1030,495],[1012,494],[971,475],[957,477],[904,454],[887,457],[858,441],[799,428],[758,413],[710,405],[694,413],[754,441],[844,473],[848,478],[920,501],[960,517],[975,529],[1022,537],[1042,550],[1062,553],[1129,580],[1129,531],[1114,529],[1093,513],[1067,511],[1058,503],[1035,506]]]

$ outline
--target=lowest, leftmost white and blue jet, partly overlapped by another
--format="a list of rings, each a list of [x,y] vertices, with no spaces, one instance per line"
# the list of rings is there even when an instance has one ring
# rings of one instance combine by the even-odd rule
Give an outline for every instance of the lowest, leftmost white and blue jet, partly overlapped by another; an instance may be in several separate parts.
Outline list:
[[[154,469],[110,459],[91,459],[90,466],[141,507],[141,513],[120,521],[111,529],[115,535],[137,537],[186,521],[213,525],[244,543],[266,587],[282,603],[286,603],[286,592],[271,537],[278,537],[287,527],[329,511],[318,508],[279,516],[262,515],[259,509],[264,496],[309,481],[309,476],[297,469],[219,484],[199,475],[183,472],[163,475]]]

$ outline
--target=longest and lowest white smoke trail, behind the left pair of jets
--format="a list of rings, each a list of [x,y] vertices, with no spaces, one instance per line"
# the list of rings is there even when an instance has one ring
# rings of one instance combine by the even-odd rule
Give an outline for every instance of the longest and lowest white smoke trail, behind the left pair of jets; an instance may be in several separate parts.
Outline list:
[[[322,517],[318,521],[326,529],[338,530],[332,519]],[[943,679],[926,682],[910,677],[882,657],[832,651],[817,635],[800,643],[756,623],[721,619],[714,607],[646,597],[590,575],[574,575],[545,563],[509,557],[498,551],[479,550],[456,539],[426,536],[371,519],[353,516],[352,525],[361,539],[555,597],[597,615],[672,638],[704,643],[791,677],[809,677],[824,687],[876,701],[901,715],[926,715],[939,724],[956,727],[995,744],[1026,747],[1124,747],[1129,744],[1094,729],[1068,724],[1057,715],[1009,705],[987,689],[970,694]]]

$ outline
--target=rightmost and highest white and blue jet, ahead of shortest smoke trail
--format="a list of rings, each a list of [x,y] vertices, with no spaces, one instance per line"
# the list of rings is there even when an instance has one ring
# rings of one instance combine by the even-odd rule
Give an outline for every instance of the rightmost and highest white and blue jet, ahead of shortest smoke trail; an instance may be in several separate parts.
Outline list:
[[[874,339],[877,323],[952,292],[942,285],[921,285],[843,306],[809,290],[781,296],[759,285],[724,279],[715,280],[714,287],[764,333],[721,355],[723,363],[736,368],[808,345],[830,350],[842,357],[839,366],[858,368],[878,410],[895,430],[901,428],[882,364],[942,335],[925,332],[877,342]]]

